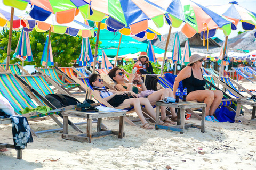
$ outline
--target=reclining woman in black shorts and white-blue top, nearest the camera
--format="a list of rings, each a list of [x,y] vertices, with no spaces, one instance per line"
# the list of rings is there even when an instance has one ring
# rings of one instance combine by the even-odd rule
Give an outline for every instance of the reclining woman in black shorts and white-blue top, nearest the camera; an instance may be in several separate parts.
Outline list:
[[[141,105],[144,105],[148,114],[156,119],[156,113],[151,106],[147,98],[138,98],[138,95],[132,91],[114,91],[104,88],[103,80],[100,78],[99,74],[92,74],[89,77],[89,83],[94,90],[98,91],[100,96],[105,99],[111,106],[117,107],[126,104],[133,105],[135,112],[139,116],[142,126],[141,128],[151,130],[154,126],[150,125],[145,117],[143,116]],[[169,124],[160,122],[161,125],[168,126]]]

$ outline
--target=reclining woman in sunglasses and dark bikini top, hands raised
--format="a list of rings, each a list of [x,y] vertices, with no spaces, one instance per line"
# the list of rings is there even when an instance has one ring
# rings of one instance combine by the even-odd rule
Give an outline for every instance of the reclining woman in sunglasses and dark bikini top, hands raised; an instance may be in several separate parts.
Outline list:
[[[143,80],[141,80],[140,75],[130,74],[129,75],[129,83],[124,82],[124,73],[118,67],[111,69],[108,73],[109,77],[117,82],[116,87],[122,91],[133,91],[135,94],[138,94],[139,97],[148,98],[150,102],[162,100],[165,97],[173,97],[173,92],[171,89],[161,89],[158,91],[150,91],[147,90]],[[133,85],[133,80],[138,80],[139,84],[141,84],[141,88]],[[161,120],[164,123],[173,123],[173,121],[177,121],[177,114],[174,108],[170,108],[172,113],[172,120],[170,120],[166,116],[166,107],[161,106]]]

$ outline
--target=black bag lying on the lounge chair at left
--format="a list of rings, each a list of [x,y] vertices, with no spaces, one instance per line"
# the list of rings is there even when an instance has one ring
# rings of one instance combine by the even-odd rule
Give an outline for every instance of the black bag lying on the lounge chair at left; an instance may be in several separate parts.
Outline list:
[[[79,101],[69,95],[64,94],[48,94],[45,98],[56,108],[61,108],[69,105],[76,105]]]

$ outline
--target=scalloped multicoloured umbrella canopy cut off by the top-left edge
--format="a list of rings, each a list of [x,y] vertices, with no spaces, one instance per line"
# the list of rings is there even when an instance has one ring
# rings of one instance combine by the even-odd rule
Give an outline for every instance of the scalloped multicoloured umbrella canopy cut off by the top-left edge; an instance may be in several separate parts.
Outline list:
[[[57,23],[70,23],[81,12],[83,15],[92,14],[90,10],[91,0],[3,0],[4,5],[25,10],[31,5],[29,15],[38,21],[45,21],[50,15],[54,15]]]

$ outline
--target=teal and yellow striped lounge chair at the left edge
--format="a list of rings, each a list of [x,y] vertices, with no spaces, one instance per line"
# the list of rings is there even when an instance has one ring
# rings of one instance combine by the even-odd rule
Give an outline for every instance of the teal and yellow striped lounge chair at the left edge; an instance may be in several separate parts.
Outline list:
[[[33,91],[33,92],[31,92]],[[37,106],[34,104],[34,102],[31,100],[34,99],[34,101],[39,106],[49,106],[53,108],[52,111],[49,111],[47,113],[40,113],[40,112],[32,112],[27,114],[22,114],[22,116],[25,116],[28,118],[28,120],[34,120],[38,117],[44,117],[44,116],[50,116],[61,128],[60,129],[54,129],[54,130],[44,130],[44,131],[33,131],[31,130],[31,133],[38,136],[37,134],[40,133],[47,133],[47,132],[54,132],[54,131],[60,131],[63,129],[63,124],[58,120],[57,117],[54,115],[58,114],[61,116],[61,109],[56,109],[48,100],[46,100],[43,96],[41,96],[37,91],[33,88],[28,89],[26,86],[21,83],[20,80],[16,79],[13,74],[6,74],[1,73],[0,74],[0,95],[4,96],[7,100],[9,100],[10,104],[14,108],[15,114],[19,115],[20,110],[23,111],[26,107],[29,109],[36,108]],[[35,95],[36,94],[36,95]],[[37,97],[39,96],[39,98]],[[72,109],[74,106],[65,107],[63,109]],[[77,128],[76,125],[74,125],[72,122],[69,122],[73,128],[79,132],[82,133],[82,131]]]

